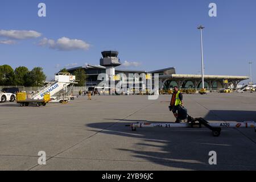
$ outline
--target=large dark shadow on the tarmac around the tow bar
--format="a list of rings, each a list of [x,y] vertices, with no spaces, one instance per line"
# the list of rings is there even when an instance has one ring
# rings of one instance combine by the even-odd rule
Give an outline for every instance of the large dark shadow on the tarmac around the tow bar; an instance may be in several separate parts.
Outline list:
[[[214,114],[223,119],[219,121],[252,121],[253,118],[256,118],[256,111],[211,110],[208,114]],[[208,114],[205,118],[208,117]],[[114,148],[113,150],[130,152],[133,157],[140,158],[143,161],[172,167],[171,169],[256,169],[256,160],[252,162],[247,160],[246,157],[253,155],[255,146],[241,143],[245,139],[235,129],[222,130],[220,137],[213,137],[208,129],[150,128],[131,131],[130,127],[125,127],[125,125],[132,122],[152,121],[117,118],[106,120],[116,122],[90,123],[86,126],[102,129],[101,133],[108,135],[139,139],[139,142],[133,144],[133,148],[127,146],[127,148]],[[243,150],[243,147],[247,147],[247,150]],[[209,151],[218,152],[218,165],[209,165]],[[236,158],[236,156],[241,156],[241,152],[243,156]]]

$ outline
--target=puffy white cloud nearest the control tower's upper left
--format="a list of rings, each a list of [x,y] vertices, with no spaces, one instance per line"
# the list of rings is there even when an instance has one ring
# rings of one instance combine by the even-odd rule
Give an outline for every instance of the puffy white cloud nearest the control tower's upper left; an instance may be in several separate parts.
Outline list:
[[[40,41],[39,46],[48,46],[51,49],[57,49],[59,51],[72,51],[77,49],[87,50],[89,49],[90,44],[79,39],[63,37],[57,41],[44,38]]]

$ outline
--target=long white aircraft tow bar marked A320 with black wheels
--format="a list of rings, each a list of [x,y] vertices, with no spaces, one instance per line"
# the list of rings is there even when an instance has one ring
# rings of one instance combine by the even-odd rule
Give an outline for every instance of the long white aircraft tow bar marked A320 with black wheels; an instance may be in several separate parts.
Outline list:
[[[204,118],[192,118],[188,115],[187,123],[150,123],[150,122],[137,122],[126,125],[131,127],[132,131],[136,131],[141,127],[164,127],[164,128],[202,128],[207,127],[212,131],[213,137],[219,137],[222,128],[254,128],[256,132],[256,124],[254,121],[245,122],[225,122],[225,123],[209,123]]]

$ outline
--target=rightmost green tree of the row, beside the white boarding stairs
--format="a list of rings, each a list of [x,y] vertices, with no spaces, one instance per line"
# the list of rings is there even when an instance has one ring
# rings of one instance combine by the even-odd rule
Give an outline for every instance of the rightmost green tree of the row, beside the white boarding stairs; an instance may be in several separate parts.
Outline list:
[[[45,80],[43,68],[35,67],[27,74],[25,86],[43,86]]]

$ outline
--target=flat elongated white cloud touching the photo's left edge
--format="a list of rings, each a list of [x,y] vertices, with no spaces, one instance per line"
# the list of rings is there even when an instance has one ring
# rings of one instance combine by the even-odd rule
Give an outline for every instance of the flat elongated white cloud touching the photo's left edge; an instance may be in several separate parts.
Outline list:
[[[34,30],[0,30],[0,36],[9,39],[39,38],[42,34]]]

